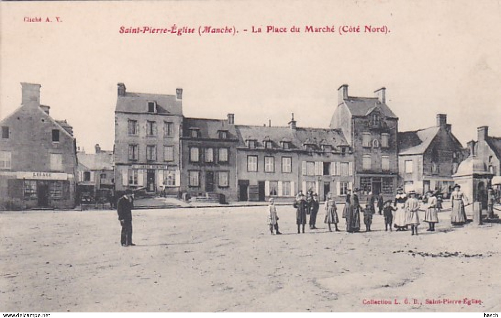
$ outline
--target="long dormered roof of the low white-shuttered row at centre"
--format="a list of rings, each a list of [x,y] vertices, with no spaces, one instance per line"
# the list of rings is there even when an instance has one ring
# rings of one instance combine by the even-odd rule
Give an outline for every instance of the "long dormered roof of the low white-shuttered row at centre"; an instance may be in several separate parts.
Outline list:
[[[258,148],[265,146],[264,140],[271,140],[274,147],[282,147],[281,141],[290,141],[290,149],[304,149],[305,142],[316,145],[318,149],[321,149],[322,144],[348,146],[341,129],[236,125],[236,130],[238,146],[246,146],[246,140],[256,140]]]

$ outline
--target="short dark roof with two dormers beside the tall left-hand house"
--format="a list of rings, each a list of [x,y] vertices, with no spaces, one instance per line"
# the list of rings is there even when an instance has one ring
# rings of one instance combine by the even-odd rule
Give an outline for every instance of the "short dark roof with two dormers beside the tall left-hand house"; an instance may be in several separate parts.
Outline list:
[[[237,133],[234,124],[226,119],[187,118],[183,119],[183,137],[191,137],[191,129],[199,131],[199,138],[219,139],[218,131],[227,131],[227,139],[236,139]]]

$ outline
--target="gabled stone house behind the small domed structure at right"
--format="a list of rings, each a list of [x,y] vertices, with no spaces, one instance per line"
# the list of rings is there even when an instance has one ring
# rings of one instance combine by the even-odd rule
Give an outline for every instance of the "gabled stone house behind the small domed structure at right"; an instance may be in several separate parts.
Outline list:
[[[464,160],[464,148],[452,133],[446,114],[436,115],[436,124],[415,131],[398,132],[399,184],[404,191],[452,191],[457,167]]]

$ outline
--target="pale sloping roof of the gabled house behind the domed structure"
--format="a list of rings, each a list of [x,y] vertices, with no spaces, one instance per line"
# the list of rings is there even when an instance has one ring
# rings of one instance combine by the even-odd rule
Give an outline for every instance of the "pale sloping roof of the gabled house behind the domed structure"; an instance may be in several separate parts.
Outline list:
[[[440,128],[437,126],[398,132],[399,154],[421,154],[426,151]]]

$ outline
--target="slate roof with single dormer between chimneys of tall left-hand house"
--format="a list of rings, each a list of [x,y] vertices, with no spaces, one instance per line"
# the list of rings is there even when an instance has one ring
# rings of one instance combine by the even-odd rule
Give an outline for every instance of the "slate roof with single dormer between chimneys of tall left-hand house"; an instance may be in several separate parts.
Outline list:
[[[156,113],[182,115],[181,102],[176,102],[175,95],[136,92],[125,92],[124,96],[119,95],[115,111],[149,113],[148,101],[156,101]]]

